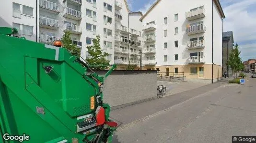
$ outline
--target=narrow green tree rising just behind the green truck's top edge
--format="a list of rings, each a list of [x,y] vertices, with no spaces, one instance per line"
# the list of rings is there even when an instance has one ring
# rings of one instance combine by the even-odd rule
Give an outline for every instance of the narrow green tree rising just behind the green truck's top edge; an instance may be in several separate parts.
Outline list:
[[[70,31],[64,31],[64,35],[61,38],[63,48],[67,49],[72,55],[80,57],[81,49],[78,49],[76,45],[72,43],[70,35]]]

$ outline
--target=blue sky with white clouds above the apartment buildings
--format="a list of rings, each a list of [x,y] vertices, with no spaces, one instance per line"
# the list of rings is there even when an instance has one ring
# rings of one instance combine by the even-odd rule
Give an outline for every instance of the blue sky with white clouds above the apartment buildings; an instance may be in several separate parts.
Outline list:
[[[155,0],[127,0],[131,11],[146,12]],[[256,58],[256,0],[220,0],[226,19],[223,31],[233,31],[243,61]]]

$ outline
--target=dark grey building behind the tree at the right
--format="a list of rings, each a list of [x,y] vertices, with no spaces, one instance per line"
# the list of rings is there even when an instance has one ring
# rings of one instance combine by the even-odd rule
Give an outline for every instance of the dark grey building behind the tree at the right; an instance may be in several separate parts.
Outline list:
[[[222,74],[225,72],[230,77],[232,76],[232,70],[227,65],[229,61],[230,52],[234,46],[233,31],[227,31],[222,33]]]

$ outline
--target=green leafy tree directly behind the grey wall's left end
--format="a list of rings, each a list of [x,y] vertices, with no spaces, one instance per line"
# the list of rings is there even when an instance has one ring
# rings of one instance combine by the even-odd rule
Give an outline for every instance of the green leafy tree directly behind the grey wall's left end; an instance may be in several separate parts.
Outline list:
[[[106,56],[109,54],[102,52],[100,47],[100,36],[96,36],[93,39],[93,45],[87,47],[89,56],[86,57],[86,62],[89,65],[109,65],[109,60],[106,60]],[[94,70],[104,70],[107,67],[93,67]]]

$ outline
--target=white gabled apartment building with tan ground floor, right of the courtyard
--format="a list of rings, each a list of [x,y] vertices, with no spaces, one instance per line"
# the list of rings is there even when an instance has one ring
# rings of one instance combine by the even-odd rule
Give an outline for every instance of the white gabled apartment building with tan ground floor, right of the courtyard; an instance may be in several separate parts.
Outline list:
[[[223,18],[219,0],[157,0],[140,19],[143,69],[184,72],[200,82],[221,79]]]

